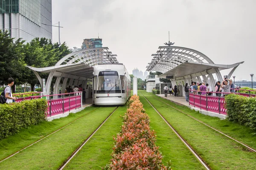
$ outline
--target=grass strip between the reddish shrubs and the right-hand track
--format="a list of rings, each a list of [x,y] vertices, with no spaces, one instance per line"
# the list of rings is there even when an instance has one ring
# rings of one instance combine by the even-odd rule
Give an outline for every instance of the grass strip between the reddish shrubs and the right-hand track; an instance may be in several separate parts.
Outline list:
[[[203,165],[141,95],[140,102],[143,103],[143,108],[150,117],[151,129],[156,132],[156,145],[162,152],[162,162],[167,165],[167,162],[171,160],[173,170],[203,170]]]

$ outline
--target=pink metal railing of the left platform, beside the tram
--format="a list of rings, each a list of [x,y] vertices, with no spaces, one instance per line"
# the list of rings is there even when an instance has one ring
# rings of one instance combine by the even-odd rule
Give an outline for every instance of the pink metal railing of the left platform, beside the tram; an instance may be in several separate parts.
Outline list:
[[[51,99],[51,96],[56,97],[55,99]],[[46,116],[54,116],[57,114],[65,113],[67,111],[80,108],[82,97],[81,92],[76,93],[66,93],[66,94],[53,94],[53,95],[45,95],[45,96],[29,96],[29,97],[21,97],[18,98],[15,102],[21,102],[23,100],[32,100],[39,98],[49,98],[47,99],[48,109],[46,112]]]

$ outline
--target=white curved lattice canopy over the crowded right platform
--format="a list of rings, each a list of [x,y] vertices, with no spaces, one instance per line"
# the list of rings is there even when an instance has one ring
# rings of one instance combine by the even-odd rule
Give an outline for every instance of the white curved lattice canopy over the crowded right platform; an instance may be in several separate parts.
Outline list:
[[[152,54],[153,59],[148,63],[147,71],[158,71],[161,74],[159,77],[166,76],[175,79],[192,78],[195,76],[203,76],[208,74],[217,74],[218,79],[222,79],[219,71],[234,68],[228,78],[231,77],[233,71],[238,65],[243,62],[238,62],[232,65],[215,64],[209,57],[199,51],[177,47],[177,46],[160,46],[156,54]]]

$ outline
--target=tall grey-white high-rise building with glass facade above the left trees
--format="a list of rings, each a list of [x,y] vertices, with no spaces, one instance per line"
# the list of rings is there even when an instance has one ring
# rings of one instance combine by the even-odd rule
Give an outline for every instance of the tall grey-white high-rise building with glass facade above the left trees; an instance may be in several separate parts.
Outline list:
[[[0,0],[0,29],[15,40],[52,40],[52,0]]]

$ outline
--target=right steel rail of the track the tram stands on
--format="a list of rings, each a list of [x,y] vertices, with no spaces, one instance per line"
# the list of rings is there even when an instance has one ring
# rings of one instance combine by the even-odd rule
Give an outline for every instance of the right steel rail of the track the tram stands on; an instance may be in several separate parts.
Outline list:
[[[94,130],[93,133],[78,148],[76,148],[76,150],[62,163],[58,170],[63,170],[63,168],[66,167],[70,160],[79,152],[79,150],[81,150],[84,144],[86,144],[90,140],[90,138],[99,130],[99,128],[102,127],[102,125],[108,120],[108,118],[116,111],[118,107],[119,106],[117,106],[115,110],[105,119],[105,121],[102,122],[102,124],[100,124],[99,127],[96,130]]]

